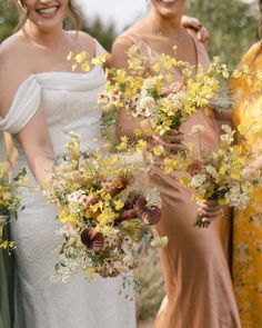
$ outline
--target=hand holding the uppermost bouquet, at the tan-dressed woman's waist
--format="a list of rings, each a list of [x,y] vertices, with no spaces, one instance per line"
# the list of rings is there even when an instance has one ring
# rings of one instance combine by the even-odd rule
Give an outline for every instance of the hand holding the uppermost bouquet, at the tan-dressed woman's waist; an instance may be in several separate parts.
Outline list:
[[[153,143],[161,145],[165,151],[178,151],[184,149],[184,135],[177,130],[170,130],[163,136],[153,135]]]

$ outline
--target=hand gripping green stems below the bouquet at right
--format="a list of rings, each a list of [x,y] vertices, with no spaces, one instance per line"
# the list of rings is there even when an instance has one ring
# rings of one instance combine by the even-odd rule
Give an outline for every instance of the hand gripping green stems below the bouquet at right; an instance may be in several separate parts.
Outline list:
[[[223,216],[225,206],[221,206],[216,200],[206,200],[203,203],[199,203],[199,215],[202,217],[203,222],[212,222]]]

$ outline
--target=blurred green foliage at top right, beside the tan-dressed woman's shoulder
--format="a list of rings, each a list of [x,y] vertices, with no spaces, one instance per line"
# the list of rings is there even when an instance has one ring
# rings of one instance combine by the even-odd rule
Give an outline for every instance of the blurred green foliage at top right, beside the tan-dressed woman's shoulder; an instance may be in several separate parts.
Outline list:
[[[196,17],[210,32],[210,56],[220,56],[233,68],[255,41],[256,0],[188,0],[189,16]]]

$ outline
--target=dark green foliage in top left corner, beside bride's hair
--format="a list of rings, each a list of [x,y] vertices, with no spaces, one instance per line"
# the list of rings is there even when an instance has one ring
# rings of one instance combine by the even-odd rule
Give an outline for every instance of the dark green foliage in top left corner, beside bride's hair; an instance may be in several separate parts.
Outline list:
[[[0,42],[9,37],[19,21],[19,13],[14,4],[8,0],[0,0]]]

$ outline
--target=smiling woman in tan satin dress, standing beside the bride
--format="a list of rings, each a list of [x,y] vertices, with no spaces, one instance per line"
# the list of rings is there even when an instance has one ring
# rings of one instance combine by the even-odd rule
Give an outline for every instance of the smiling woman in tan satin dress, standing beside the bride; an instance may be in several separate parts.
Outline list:
[[[184,29],[181,17],[185,0],[151,0],[150,12],[120,36],[112,49],[112,64],[127,68],[127,50],[138,44],[145,56],[164,52],[195,67],[209,68],[205,47],[195,33]],[[182,73],[173,72],[177,81]],[[147,121],[130,117],[123,109],[119,115],[119,132],[133,137],[135,128],[143,129]],[[178,148],[181,141],[190,140],[189,132],[194,125],[202,125],[202,147],[211,151],[219,147],[219,127],[213,113],[194,115],[181,128],[160,140],[167,148]],[[194,140],[190,140],[195,142]],[[198,149],[198,145],[195,145]],[[223,220],[218,220],[209,231],[193,229],[198,206],[188,189],[180,186],[175,173],[164,176],[158,163],[149,175],[149,182],[159,189],[162,197],[162,219],[159,232],[169,237],[169,243],[161,251],[167,297],[155,320],[157,328],[238,328],[239,314],[226,262],[228,230]]]

